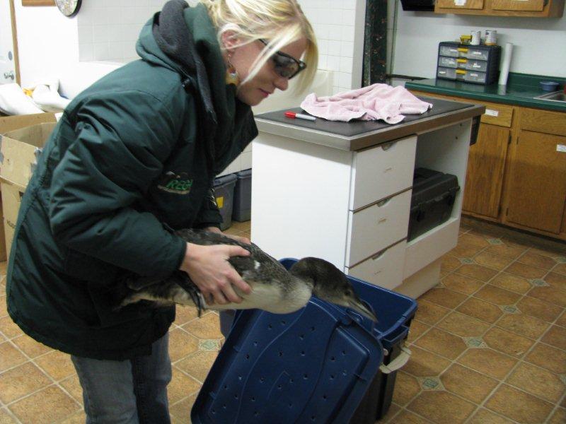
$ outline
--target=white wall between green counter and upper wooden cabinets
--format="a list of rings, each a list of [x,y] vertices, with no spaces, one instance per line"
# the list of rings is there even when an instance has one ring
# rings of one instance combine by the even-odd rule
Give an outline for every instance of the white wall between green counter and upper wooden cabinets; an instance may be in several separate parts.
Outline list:
[[[389,0],[390,16],[394,2]],[[393,35],[392,21],[388,27]],[[444,15],[403,11],[400,3],[393,73],[434,78],[439,42],[470,30],[497,30],[499,45],[512,42],[512,72],[566,76],[566,13],[562,18]]]

